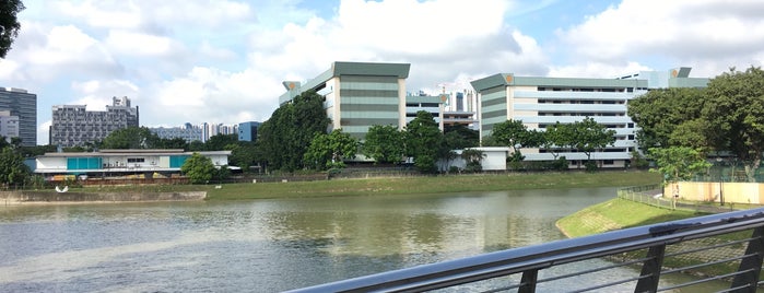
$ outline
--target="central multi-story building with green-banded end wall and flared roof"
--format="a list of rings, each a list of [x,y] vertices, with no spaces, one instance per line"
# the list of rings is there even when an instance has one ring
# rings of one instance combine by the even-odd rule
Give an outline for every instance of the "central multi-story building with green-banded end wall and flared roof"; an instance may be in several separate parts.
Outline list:
[[[331,68],[301,84],[283,82],[286,93],[279,104],[316,91],[325,97],[324,108],[331,119],[328,130],[341,128],[363,139],[374,125],[405,126],[405,79],[409,63],[333,62]]]

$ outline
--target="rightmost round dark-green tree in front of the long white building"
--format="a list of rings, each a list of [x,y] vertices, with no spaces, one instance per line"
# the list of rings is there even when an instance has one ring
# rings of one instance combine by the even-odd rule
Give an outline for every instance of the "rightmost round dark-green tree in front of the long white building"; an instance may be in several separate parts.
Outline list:
[[[571,146],[586,154],[587,163],[591,161],[591,152],[615,143],[615,130],[608,129],[591,117],[571,125],[573,129]]]

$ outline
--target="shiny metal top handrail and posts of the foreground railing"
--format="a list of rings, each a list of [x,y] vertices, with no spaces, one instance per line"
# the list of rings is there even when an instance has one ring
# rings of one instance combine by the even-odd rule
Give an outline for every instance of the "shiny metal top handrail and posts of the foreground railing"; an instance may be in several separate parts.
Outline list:
[[[528,284],[534,288],[536,273],[550,267],[644,248],[650,248],[650,255],[654,249],[659,248],[656,250],[658,251],[656,257],[650,258],[650,260],[658,260],[658,265],[660,265],[663,257],[662,249],[666,245],[752,228],[757,228],[756,231],[761,234],[761,231],[764,231],[762,227],[764,227],[764,208],[733,211],[489,253],[297,289],[291,292],[421,292],[515,273],[522,273],[524,281],[530,280]],[[759,259],[757,265],[755,261],[752,265],[754,269],[757,268],[755,280],[751,280],[753,285],[759,282],[761,247],[764,247],[762,235],[754,236],[749,242],[748,247],[749,250],[754,249],[754,251],[747,251],[747,255],[752,254]],[[738,273],[743,274],[751,269],[750,263],[747,262],[745,269],[743,269],[742,263],[748,261],[749,257],[743,256]],[[644,266],[647,267],[650,260],[645,261]],[[639,282],[651,277],[645,274],[645,267],[643,267],[643,276],[635,278],[639,279]],[[658,266],[658,270],[660,267]],[[657,286],[659,278],[654,279],[655,286]],[[519,288],[522,289],[528,284],[520,284]],[[648,284],[648,286],[653,285]],[[527,292],[533,292],[533,290]]]

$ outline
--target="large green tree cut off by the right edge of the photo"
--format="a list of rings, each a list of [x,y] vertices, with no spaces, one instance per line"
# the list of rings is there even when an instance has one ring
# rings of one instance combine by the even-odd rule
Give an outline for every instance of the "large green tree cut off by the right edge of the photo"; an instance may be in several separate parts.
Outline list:
[[[751,67],[730,69],[710,80],[703,120],[706,137],[717,151],[729,151],[742,161],[754,180],[764,152],[764,71]]]

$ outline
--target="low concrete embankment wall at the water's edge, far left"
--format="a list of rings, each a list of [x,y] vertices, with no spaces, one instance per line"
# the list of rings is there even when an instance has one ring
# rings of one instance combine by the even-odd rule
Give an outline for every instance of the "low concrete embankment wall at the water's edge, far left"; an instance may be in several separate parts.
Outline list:
[[[141,202],[141,201],[195,201],[204,200],[205,191],[184,192],[45,192],[2,191],[3,204],[24,203],[77,203],[77,202]]]

